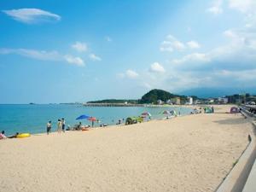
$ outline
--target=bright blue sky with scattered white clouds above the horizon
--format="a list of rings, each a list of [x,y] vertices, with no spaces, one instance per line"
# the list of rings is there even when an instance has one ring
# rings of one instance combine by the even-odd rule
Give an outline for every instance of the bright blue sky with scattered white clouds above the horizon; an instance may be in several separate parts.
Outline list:
[[[3,0],[0,9],[0,103],[256,92],[255,0]]]

